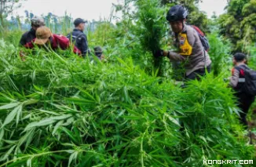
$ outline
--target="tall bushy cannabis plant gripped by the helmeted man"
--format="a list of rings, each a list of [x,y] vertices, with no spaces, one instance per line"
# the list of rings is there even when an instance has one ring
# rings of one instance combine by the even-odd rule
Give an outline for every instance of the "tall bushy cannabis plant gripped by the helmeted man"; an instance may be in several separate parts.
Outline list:
[[[166,34],[165,8],[157,0],[139,0],[137,6],[137,38],[145,52],[154,53],[161,49]],[[163,76],[163,58],[153,57],[153,71],[159,70]]]

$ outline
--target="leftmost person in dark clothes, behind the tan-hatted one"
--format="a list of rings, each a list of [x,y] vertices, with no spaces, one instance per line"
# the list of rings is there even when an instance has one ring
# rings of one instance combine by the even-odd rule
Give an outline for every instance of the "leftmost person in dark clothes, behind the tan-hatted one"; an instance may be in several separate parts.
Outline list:
[[[40,17],[33,17],[31,19],[31,30],[25,32],[21,38],[20,38],[20,46],[26,45],[28,42],[31,42],[33,39],[35,39],[35,31],[38,29],[38,27],[45,26],[45,22]]]

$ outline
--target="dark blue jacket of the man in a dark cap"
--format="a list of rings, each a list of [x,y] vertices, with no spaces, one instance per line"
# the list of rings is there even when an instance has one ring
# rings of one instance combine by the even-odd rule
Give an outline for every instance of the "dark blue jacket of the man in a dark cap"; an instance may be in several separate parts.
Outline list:
[[[67,35],[67,38],[75,43],[75,46],[81,51],[82,56],[86,56],[86,53],[88,52],[88,42],[86,34],[75,28],[72,33]]]

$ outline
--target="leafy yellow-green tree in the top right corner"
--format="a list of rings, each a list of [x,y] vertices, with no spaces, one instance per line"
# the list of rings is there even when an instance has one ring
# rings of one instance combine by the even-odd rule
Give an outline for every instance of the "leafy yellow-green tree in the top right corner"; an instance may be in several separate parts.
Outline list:
[[[256,0],[230,0],[218,19],[220,34],[232,42],[232,52],[247,52],[256,41]]]

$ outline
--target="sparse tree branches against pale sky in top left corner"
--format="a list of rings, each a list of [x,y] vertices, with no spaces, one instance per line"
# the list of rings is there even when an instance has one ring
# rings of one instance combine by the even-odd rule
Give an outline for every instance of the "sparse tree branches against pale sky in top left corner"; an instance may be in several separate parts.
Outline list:
[[[13,9],[20,7],[20,0],[0,0],[0,25],[5,27],[4,20],[9,14],[13,13]]]

